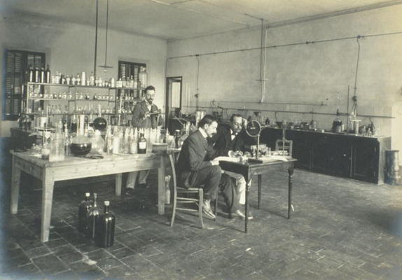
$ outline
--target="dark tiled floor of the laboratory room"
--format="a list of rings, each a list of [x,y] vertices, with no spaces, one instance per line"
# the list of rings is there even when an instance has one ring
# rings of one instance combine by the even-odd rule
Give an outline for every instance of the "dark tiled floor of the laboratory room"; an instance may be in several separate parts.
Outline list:
[[[155,188],[121,199],[113,181],[57,184],[50,241],[42,244],[41,190],[29,185],[18,214],[2,219],[1,279],[402,279],[401,186],[296,170],[287,220],[286,174],[265,175],[260,210],[251,190],[255,219],[244,234],[242,221],[223,213],[217,223],[205,218],[204,230],[187,214],[170,228],[170,208],[156,214]],[[76,230],[78,203],[95,190],[116,215],[109,248]]]

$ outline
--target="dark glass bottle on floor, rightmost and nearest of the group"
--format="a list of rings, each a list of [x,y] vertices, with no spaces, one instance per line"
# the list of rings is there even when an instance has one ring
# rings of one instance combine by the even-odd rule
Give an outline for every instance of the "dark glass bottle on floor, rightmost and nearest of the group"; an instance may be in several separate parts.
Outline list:
[[[99,247],[109,247],[113,245],[114,241],[114,225],[116,218],[109,212],[110,202],[104,202],[104,214],[99,217],[97,223],[97,232],[95,237],[95,244]]]

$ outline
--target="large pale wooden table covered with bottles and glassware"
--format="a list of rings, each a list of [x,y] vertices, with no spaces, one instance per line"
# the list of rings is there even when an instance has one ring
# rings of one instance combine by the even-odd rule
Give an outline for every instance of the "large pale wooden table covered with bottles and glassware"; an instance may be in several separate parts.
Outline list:
[[[165,212],[165,163],[163,153],[106,155],[103,159],[68,157],[60,162],[37,158],[30,152],[13,155],[11,213],[17,214],[21,171],[42,180],[41,241],[49,240],[55,181],[116,174],[116,195],[121,195],[122,173],[158,169],[158,214]]]

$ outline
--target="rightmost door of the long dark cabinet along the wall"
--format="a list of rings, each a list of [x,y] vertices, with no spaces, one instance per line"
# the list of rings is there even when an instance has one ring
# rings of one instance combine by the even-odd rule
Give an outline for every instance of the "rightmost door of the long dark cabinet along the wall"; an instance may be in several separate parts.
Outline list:
[[[378,142],[359,139],[353,146],[352,178],[377,183]]]

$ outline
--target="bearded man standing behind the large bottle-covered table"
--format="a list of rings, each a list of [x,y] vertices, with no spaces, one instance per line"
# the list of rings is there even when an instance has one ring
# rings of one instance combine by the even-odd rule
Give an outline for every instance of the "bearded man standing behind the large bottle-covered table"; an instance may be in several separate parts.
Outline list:
[[[155,97],[155,87],[148,85],[144,90],[144,100],[138,102],[134,106],[132,125],[139,128],[157,128],[158,127],[158,113],[160,110],[158,106],[153,104]],[[140,188],[147,188],[146,178],[148,177],[149,170],[140,172],[130,172],[127,177],[127,183],[125,186],[126,194],[130,194],[134,190],[135,181],[138,178]]]

